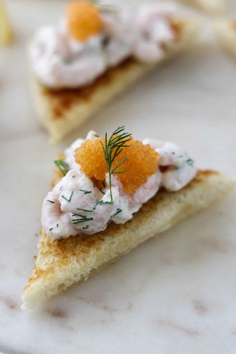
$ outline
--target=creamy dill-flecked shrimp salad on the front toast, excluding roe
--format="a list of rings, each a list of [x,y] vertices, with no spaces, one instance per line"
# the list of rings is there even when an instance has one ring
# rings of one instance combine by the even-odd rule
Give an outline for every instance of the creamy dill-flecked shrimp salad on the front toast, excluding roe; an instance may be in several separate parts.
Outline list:
[[[96,136],[90,131],[87,139]],[[126,193],[116,175],[112,175],[112,195],[108,174],[101,189],[80,171],[75,163],[74,151],[84,139],[77,139],[65,151],[65,161],[69,172],[43,201],[42,226],[53,240],[74,235],[92,235],[104,231],[110,222],[124,224],[158,190],[177,191],[186,186],[196,175],[193,160],[187,152],[172,142],[144,139],[160,154],[159,166],[155,174],[140,186],[134,194]]]

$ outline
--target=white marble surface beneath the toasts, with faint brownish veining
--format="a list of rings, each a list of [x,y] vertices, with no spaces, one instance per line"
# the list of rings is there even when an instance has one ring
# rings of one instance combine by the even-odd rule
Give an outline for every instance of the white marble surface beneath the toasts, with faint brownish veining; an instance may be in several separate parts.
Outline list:
[[[20,310],[55,155],[92,128],[103,134],[124,123],[136,138],[176,141],[198,166],[236,176],[236,63],[208,42],[145,78],[52,148],[31,106],[25,44],[64,4],[6,3],[16,41],[0,49],[0,351],[236,353],[236,193],[84,284]]]

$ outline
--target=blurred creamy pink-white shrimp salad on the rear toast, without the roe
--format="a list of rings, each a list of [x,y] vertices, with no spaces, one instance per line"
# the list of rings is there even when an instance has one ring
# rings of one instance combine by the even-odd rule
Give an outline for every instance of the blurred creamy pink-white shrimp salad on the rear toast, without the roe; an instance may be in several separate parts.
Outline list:
[[[172,2],[149,3],[135,8],[101,10],[103,30],[85,42],[73,39],[66,21],[38,30],[30,47],[31,67],[51,88],[75,88],[92,83],[109,67],[129,56],[155,62],[164,55],[175,34],[169,19],[176,12]]]

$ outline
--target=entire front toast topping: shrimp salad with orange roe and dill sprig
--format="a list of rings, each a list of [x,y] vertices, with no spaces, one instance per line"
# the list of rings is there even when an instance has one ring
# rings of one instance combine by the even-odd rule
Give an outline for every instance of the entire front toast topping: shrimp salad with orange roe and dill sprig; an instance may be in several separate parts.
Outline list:
[[[160,188],[178,191],[196,175],[187,152],[168,141],[134,140],[118,127],[111,137],[90,131],[55,161],[64,177],[43,201],[42,226],[53,240],[124,224]]]

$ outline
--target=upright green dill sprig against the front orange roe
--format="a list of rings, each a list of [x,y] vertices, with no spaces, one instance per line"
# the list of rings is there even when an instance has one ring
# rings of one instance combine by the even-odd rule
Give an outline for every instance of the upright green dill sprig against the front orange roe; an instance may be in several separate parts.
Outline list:
[[[124,132],[124,126],[118,126],[118,128],[112,133],[110,139],[108,139],[108,134],[105,134],[105,144],[100,140],[103,147],[103,152],[105,156],[106,166],[109,174],[109,184],[110,184],[110,193],[111,193],[111,202],[113,204],[113,195],[112,195],[112,175],[123,173],[127,171],[127,168],[122,171],[117,171],[118,167],[127,160],[128,157],[123,158],[115,167],[113,167],[113,162],[118,157],[120,152],[124,147],[129,147],[126,143],[131,140],[130,133]]]

